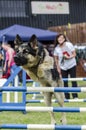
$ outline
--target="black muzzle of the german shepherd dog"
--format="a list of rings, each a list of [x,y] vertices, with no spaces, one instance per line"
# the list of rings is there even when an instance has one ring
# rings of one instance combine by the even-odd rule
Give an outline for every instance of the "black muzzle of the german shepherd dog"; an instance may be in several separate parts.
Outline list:
[[[21,57],[19,55],[14,56],[14,61],[17,66],[22,66],[22,65],[27,64],[27,59],[25,57]]]

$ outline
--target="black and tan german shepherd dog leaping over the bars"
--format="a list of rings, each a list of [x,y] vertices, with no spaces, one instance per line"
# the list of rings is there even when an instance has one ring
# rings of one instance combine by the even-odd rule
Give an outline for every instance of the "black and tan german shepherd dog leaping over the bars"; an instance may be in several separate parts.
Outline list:
[[[39,82],[44,87],[62,87],[62,79],[54,69],[54,59],[49,56],[48,51],[43,48],[35,35],[32,35],[28,43],[23,43],[19,35],[15,38],[16,55],[15,63],[27,72],[31,79]],[[43,92],[44,101],[47,106],[51,106],[52,95],[58,100],[60,107],[64,107],[64,93]],[[50,112],[51,124],[55,124],[54,113]],[[66,124],[66,115],[62,113],[62,124]]]

